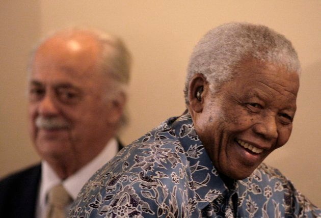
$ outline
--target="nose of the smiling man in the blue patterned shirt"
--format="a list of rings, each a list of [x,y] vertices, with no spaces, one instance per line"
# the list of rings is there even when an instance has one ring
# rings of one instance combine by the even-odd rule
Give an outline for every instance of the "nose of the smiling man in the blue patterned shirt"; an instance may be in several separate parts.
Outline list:
[[[278,129],[276,117],[273,115],[265,116],[259,123],[254,125],[254,131],[262,135],[265,139],[277,139]]]

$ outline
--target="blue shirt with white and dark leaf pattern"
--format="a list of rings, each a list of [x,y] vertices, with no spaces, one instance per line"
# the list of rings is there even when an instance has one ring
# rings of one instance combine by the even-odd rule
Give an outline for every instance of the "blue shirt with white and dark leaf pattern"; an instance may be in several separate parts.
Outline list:
[[[122,149],[78,194],[70,217],[317,217],[277,169],[262,163],[227,186],[184,114]]]

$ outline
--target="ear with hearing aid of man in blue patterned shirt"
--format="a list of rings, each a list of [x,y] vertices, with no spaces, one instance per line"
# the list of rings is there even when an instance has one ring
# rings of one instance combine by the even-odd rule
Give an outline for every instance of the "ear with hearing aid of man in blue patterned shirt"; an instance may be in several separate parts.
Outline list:
[[[203,111],[204,97],[208,92],[208,83],[203,74],[193,76],[189,85],[189,108],[195,113]]]

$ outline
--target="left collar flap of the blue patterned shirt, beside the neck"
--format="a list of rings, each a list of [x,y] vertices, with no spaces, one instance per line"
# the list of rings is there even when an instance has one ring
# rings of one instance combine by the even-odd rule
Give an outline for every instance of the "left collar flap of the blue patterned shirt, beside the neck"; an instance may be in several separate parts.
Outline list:
[[[227,196],[230,191],[207,155],[195,131],[191,115],[186,111],[179,118],[170,119],[169,125],[175,130],[190,163],[192,180],[189,185],[195,190],[197,207],[202,210],[220,195]],[[235,192],[235,188],[232,189],[232,192]]]

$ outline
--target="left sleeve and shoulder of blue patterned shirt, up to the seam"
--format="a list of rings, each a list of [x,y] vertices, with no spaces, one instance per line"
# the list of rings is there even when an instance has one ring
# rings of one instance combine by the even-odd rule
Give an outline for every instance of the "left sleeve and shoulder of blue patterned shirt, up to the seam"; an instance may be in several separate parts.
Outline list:
[[[71,216],[154,217],[178,210],[187,213],[188,172],[179,140],[163,123],[124,147],[94,174],[78,195]]]

